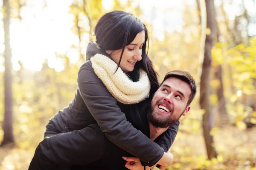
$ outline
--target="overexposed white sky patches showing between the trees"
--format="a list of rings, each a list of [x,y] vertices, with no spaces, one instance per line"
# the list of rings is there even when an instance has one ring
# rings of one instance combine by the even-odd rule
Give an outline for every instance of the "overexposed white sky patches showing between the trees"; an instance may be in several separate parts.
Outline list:
[[[224,0],[228,2],[229,0]],[[22,1],[21,1],[22,2]],[[79,37],[71,31],[74,26],[74,16],[70,14],[70,5],[72,0],[27,0],[26,6],[20,10],[20,17],[11,20],[10,36],[12,46],[12,64],[13,69],[18,71],[22,62],[24,68],[31,71],[40,71],[45,59],[50,68],[55,71],[64,70],[64,61],[56,57],[56,54],[64,55],[70,59],[71,63],[76,63],[79,59],[79,50],[72,46],[79,46]],[[126,6],[131,3],[131,9],[139,6],[143,14],[140,19],[146,23],[153,23],[153,34],[158,40],[164,40],[165,32],[184,31],[183,11],[186,6],[196,7],[195,0],[119,0]],[[113,9],[113,0],[102,0],[102,11],[111,11]],[[251,17],[256,16],[256,5],[253,0],[233,0],[232,4],[224,5],[225,11],[230,20],[234,20],[236,15],[243,11],[239,6],[244,3]],[[215,5],[221,5],[221,0],[215,0]],[[0,2],[3,6],[3,2]],[[195,9],[194,9],[195,10]],[[198,16],[195,16],[198,17]],[[3,13],[0,14],[0,20],[3,20]],[[221,18],[220,18],[221,20]],[[87,18],[83,18],[78,23],[85,30],[89,30]],[[247,25],[247,20],[243,20],[241,25]],[[240,26],[239,27],[243,27]],[[248,24],[248,35],[256,35],[256,23]],[[3,22],[0,22],[0,71],[4,71],[3,52],[4,36]],[[83,35],[81,46],[84,47],[82,53],[85,54],[88,35]],[[247,32],[242,32],[242,36],[247,36]]]

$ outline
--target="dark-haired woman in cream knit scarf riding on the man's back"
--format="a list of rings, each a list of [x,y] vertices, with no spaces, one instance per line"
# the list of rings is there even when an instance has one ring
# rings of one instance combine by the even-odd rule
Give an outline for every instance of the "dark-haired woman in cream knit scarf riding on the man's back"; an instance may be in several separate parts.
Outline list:
[[[130,13],[112,11],[99,19],[94,34],[96,41],[88,44],[87,62],[78,72],[76,96],[67,108],[50,119],[44,134],[47,138],[39,144],[41,150],[55,163],[90,163],[97,157],[88,151],[91,148],[86,150],[84,146],[93,147],[93,144],[82,145],[84,156],[90,153],[89,159],[82,162],[69,157],[68,152],[72,147],[76,148],[73,152],[81,152],[77,146],[92,135],[77,130],[98,124],[111,142],[141,159],[145,165],[169,162],[172,158],[162,147],[171,146],[178,124],[163,133],[157,144],[134,128],[123,113],[130,105],[151,98],[159,87],[157,73],[146,52],[147,28]],[[75,140],[77,137],[79,141]]]

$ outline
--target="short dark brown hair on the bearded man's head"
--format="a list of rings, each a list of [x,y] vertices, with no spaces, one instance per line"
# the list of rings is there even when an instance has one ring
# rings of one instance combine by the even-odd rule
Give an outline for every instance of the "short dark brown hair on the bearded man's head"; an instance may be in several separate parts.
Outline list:
[[[197,88],[197,85],[195,83],[195,80],[194,78],[189,74],[189,72],[187,71],[182,71],[182,70],[173,70],[173,71],[170,71],[168,72],[164,79],[163,79],[163,82],[170,78],[170,77],[175,77],[177,79],[180,79],[182,80],[183,82],[186,82],[190,88],[191,88],[191,94],[189,96],[189,100],[188,100],[188,103],[187,103],[187,106],[190,105],[190,103],[192,102],[192,100],[194,99],[195,97],[195,94],[196,94],[196,88]],[[161,85],[163,84],[163,82],[161,83]],[[161,86],[160,85],[160,86]]]

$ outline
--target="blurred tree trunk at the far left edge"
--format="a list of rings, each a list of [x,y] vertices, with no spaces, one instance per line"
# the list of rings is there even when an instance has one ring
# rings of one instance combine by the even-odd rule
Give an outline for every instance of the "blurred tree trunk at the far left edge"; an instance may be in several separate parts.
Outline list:
[[[3,142],[1,146],[8,143],[14,143],[13,129],[12,129],[12,51],[10,46],[10,5],[9,0],[3,0],[3,7],[5,14],[3,18],[4,29],[4,58],[5,58],[5,72],[4,72],[4,120],[3,120]]]

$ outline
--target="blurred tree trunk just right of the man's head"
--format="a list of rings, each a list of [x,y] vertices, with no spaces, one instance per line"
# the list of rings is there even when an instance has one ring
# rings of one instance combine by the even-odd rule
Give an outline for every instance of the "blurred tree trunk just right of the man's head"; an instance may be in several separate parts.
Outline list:
[[[205,0],[206,3],[206,12],[207,12],[207,28],[210,29],[210,34],[207,34],[205,40],[204,48],[204,61],[202,65],[202,74],[201,74],[201,86],[200,86],[200,106],[204,109],[203,115],[203,131],[204,131],[204,140],[206,144],[207,155],[209,159],[217,157],[217,152],[213,144],[213,136],[210,135],[210,131],[213,127],[213,112],[211,113],[210,101],[209,101],[209,78],[210,78],[210,69],[212,62],[212,45],[213,39],[217,34],[217,24],[215,20],[215,7],[213,0]]]

